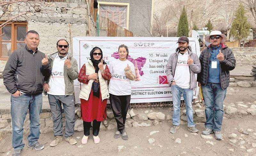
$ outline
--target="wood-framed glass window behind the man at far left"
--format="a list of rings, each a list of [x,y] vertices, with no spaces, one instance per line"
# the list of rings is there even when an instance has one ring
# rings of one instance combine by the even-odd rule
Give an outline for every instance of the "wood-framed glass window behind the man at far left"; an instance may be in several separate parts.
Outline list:
[[[0,29],[0,60],[8,60],[14,50],[25,46],[27,30],[26,22],[12,22]]]

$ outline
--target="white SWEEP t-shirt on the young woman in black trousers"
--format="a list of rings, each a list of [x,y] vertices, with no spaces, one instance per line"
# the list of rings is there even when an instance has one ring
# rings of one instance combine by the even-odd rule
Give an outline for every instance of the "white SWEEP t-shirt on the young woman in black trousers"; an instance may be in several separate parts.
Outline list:
[[[112,77],[108,85],[110,94],[117,96],[131,95],[131,81],[124,74],[124,68],[127,67],[127,64],[130,66],[132,73],[135,75],[134,65],[131,61],[121,61],[117,59],[111,62],[109,71]]]

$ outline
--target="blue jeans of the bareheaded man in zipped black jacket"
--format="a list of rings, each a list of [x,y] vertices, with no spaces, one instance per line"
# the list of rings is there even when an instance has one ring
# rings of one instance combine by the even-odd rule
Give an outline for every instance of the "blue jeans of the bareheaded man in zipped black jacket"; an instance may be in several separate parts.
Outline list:
[[[12,147],[23,149],[23,124],[29,110],[29,136],[28,145],[36,144],[40,135],[40,113],[42,110],[42,94],[29,95],[21,94],[15,97],[11,95],[11,115],[12,115]]]

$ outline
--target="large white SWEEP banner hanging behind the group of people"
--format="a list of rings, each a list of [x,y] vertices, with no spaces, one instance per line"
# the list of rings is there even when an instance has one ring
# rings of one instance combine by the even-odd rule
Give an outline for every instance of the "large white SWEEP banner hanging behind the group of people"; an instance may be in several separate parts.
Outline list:
[[[136,73],[136,79],[132,81],[131,103],[172,101],[166,64],[178,47],[177,41],[176,37],[74,37],[73,56],[81,69],[90,59],[92,48],[98,46],[102,50],[103,60],[109,66],[111,61],[119,59],[118,46],[124,44],[129,50],[127,59],[133,63]],[[200,55],[196,38],[189,38],[189,46],[193,53]],[[112,75],[115,76],[118,75]],[[80,103],[81,85],[77,80],[74,81],[76,103]],[[194,98],[198,91],[198,88],[194,89]]]

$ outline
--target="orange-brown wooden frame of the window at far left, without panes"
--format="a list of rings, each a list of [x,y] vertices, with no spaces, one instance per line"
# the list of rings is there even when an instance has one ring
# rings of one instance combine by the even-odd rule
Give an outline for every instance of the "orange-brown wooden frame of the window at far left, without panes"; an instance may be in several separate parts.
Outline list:
[[[5,21],[0,21],[0,24],[3,24]],[[23,42],[23,41],[17,41],[17,27],[23,26],[26,27],[26,32],[28,32],[28,23],[27,22],[11,22],[8,25],[5,26],[11,26],[11,53],[17,49],[17,42]],[[2,34],[2,28],[0,29],[0,34]],[[2,36],[0,36],[0,60],[8,60],[9,56],[2,56]]]

